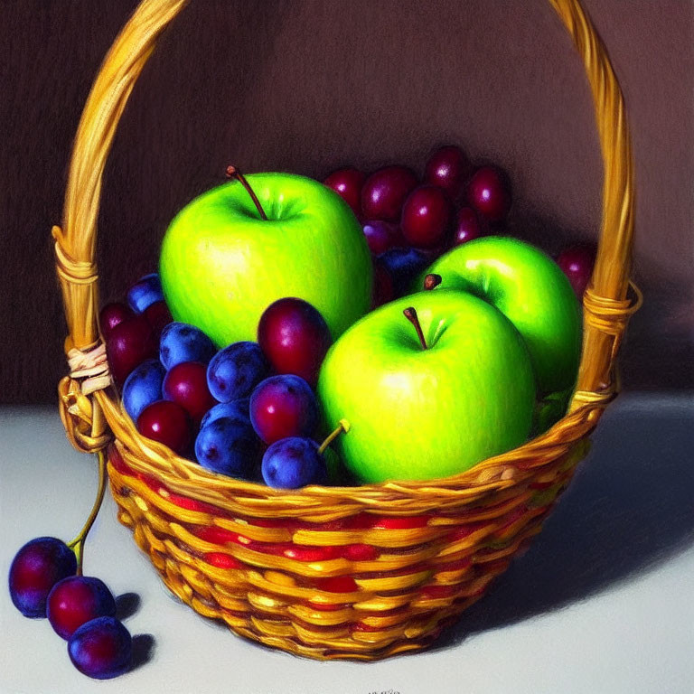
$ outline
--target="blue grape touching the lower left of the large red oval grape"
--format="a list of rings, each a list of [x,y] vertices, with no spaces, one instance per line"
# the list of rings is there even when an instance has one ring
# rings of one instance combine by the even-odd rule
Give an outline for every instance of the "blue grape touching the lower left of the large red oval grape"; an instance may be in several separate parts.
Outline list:
[[[267,372],[267,360],[258,342],[234,342],[212,357],[207,384],[214,399],[230,402],[248,397]]]

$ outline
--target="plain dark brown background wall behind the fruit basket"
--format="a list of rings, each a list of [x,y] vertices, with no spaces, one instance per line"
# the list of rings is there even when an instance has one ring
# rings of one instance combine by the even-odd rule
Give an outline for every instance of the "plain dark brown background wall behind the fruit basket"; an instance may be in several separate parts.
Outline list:
[[[0,400],[55,399],[65,326],[49,231],[98,65],[134,0],[0,1]],[[631,389],[694,386],[694,21],[688,0],[585,0],[633,127]],[[510,173],[514,226],[595,239],[602,167],[586,79],[544,0],[193,0],[164,34],[105,174],[104,300],[156,266],[167,222],[247,171],[421,170],[456,143]]]

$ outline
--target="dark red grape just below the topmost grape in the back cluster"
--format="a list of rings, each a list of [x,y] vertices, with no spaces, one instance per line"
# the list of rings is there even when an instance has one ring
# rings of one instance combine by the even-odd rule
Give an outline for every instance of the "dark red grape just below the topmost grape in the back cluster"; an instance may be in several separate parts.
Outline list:
[[[443,189],[420,185],[402,206],[400,228],[410,246],[433,249],[442,243],[451,218],[451,203]]]

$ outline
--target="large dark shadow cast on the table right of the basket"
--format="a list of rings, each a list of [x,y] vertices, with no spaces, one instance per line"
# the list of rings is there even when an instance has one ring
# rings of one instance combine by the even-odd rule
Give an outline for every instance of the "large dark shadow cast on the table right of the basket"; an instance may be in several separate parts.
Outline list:
[[[528,553],[432,650],[590,596],[694,541],[694,418],[684,408],[608,413]]]

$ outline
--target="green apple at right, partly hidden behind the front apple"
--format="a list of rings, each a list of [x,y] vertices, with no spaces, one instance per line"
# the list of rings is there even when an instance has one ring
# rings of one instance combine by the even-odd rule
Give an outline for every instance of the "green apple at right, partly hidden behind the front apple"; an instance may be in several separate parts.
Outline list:
[[[572,389],[581,356],[581,310],[552,258],[519,239],[488,236],[450,250],[427,273],[440,275],[442,288],[481,296],[516,326],[528,345],[539,394]]]

